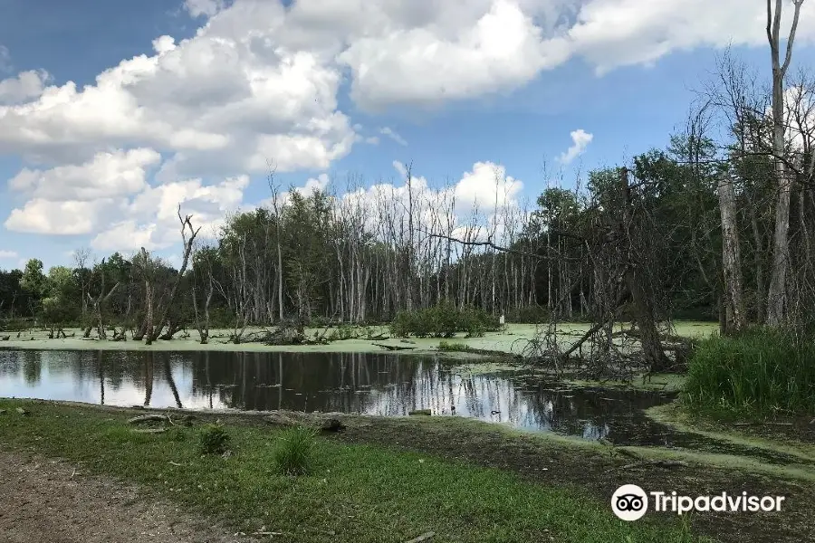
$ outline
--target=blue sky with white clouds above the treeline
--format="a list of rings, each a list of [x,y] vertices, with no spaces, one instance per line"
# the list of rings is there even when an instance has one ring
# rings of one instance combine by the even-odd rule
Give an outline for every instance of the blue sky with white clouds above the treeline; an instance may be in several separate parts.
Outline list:
[[[685,123],[716,59],[769,77],[762,0],[0,0],[0,269],[213,233],[283,189],[514,205]],[[791,2],[784,3],[784,28]],[[791,71],[815,61],[815,0]],[[429,190],[429,189],[428,189]]]

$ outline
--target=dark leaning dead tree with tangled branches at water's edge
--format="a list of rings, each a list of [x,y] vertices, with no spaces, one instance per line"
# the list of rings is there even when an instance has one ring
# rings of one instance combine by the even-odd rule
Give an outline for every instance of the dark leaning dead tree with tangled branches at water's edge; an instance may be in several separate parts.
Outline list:
[[[559,281],[565,286],[558,290],[560,296],[550,300],[549,322],[539,327],[523,350],[525,358],[557,374],[609,377],[630,376],[635,370],[666,371],[677,358],[668,357],[666,351],[686,348],[682,340],[667,333],[669,310],[658,263],[661,245],[655,243],[656,219],[647,204],[650,187],[641,181],[631,184],[626,167],[619,168],[616,177],[609,174],[594,188],[595,201],[586,207],[580,222],[545,224],[543,252],[499,245],[492,233],[485,241],[428,233],[471,248],[546,262],[560,271]],[[569,341],[562,324],[570,317],[573,300],[586,296],[587,275],[592,322]]]

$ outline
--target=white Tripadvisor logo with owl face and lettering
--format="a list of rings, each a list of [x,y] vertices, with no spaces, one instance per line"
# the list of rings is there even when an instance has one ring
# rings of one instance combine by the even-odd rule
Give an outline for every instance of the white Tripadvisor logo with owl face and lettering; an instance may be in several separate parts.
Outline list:
[[[715,496],[680,496],[672,492],[647,492],[636,484],[624,484],[611,496],[611,510],[623,520],[641,519],[648,510],[648,496],[655,511],[671,511],[682,515],[690,511],[757,512],[780,511],[783,496],[749,496],[747,492]]]

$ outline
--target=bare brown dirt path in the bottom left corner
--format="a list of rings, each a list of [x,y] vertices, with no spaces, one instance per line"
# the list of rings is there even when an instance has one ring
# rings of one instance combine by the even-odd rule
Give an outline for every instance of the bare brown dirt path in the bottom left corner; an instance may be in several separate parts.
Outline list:
[[[0,543],[245,543],[224,526],[59,461],[0,452]]]

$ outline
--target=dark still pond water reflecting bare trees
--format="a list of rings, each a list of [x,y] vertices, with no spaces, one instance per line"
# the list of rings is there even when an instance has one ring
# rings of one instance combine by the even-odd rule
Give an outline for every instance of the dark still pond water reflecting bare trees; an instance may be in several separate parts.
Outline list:
[[[659,393],[471,374],[434,357],[360,353],[0,351],[0,397],[194,409],[475,417],[615,443],[669,444],[643,409]]]

